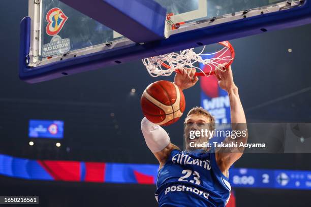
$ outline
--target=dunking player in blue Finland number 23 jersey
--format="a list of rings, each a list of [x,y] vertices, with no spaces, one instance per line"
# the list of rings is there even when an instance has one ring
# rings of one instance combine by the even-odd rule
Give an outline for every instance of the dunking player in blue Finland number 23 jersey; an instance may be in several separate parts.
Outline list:
[[[194,86],[198,78],[194,77],[195,68],[184,68],[177,73],[174,83],[182,90]],[[232,130],[247,130],[246,119],[233,82],[231,67],[226,72],[215,71],[219,85],[226,90],[230,99],[231,122],[244,123],[242,126],[231,124]],[[189,131],[199,130],[200,126],[210,124],[214,127],[214,118],[203,108],[195,107],[185,118],[184,143],[186,149],[181,151],[170,142],[170,137],[159,125],[143,118],[142,132],[148,148],[159,160],[160,167],[157,179],[155,198],[159,206],[225,206],[229,200],[231,187],[228,182],[230,166],[238,160],[243,148],[191,149],[188,143],[197,142],[198,137],[190,140]],[[200,137],[200,140],[209,141]],[[205,139],[205,140],[204,140]],[[246,143],[247,133],[233,139],[227,137],[224,143]]]

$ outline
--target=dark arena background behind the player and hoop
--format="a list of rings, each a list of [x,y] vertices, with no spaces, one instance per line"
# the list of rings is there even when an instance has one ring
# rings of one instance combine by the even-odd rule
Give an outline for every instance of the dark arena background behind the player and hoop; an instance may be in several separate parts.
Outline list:
[[[157,164],[140,130],[140,95],[151,82],[173,77],[151,78],[141,61],[134,61],[43,83],[24,83],[18,78],[19,22],[24,16],[27,1],[1,2],[0,154],[31,160]],[[306,25],[231,41],[236,51],[234,78],[248,121],[310,122],[310,32],[311,25]],[[184,94],[186,111],[200,105],[200,84]],[[57,140],[29,139],[30,119],[64,121],[61,147],[55,146]],[[172,143],[182,144],[182,120],[166,130]],[[29,146],[30,140],[34,146]],[[246,154],[235,167],[311,170],[310,158],[310,154]],[[1,196],[38,195],[42,206],[157,205],[155,185],[150,184],[4,175],[0,184]],[[308,190],[234,191],[236,206],[307,206],[311,201]]]

